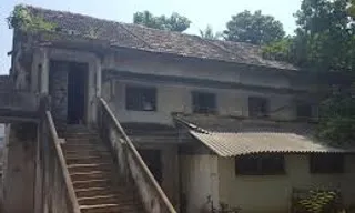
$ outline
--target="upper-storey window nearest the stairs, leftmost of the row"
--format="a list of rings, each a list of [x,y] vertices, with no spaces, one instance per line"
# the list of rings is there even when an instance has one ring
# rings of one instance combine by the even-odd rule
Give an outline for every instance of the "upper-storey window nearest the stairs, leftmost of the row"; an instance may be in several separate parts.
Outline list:
[[[156,89],[145,87],[126,87],[125,109],[132,111],[155,111]]]

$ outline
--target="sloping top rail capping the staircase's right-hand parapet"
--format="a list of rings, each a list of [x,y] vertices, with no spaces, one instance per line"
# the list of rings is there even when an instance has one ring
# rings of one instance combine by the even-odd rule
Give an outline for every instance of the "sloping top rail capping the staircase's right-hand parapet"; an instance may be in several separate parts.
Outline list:
[[[114,126],[119,130],[119,132],[121,132],[123,139],[125,140],[130,151],[133,153],[133,156],[138,160],[139,165],[141,166],[141,169],[143,169],[144,174],[149,178],[149,181],[151,182],[151,184],[154,186],[154,189],[158,191],[159,196],[162,199],[162,201],[164,202],[168,211],[170,213],[176,213],[175,209],[173,207],[173,205],[170,203],[169,199],[166,197],[165,193],[163,192],[163,190],[160,187],[160,185],[158,184],[158,182],[155,181],[153,174],[151,173],[151,171],[148,169],[146,164],[144,163],[142,156],[139,154],[139,152],[136,151],[136,149],[134,148],[131,139],[125,134],[122,125],[120,124],[120,122],[118,121],[118,119],[115,118],[115,115],[113,114],[113,112],[111,111],[110,106],[108,105],[108,103],[100,98],[100,102],[103,105],[104,110],[109,113],[110,119],[113,121]]]

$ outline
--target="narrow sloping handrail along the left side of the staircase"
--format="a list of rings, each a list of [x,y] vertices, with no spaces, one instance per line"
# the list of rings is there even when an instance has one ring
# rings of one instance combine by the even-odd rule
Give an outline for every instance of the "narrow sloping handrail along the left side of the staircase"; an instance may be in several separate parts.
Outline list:
[[[67,163],[65,163],[63,151],[62,151],[62,149],[60,146],[60,139],[58,138],[58,133],[57,133],[57,130],[55,130],[55,125],[54,125],[54,121],[53,121],[51,112],[50,111],[45,111],[45,116],[47,116],[47,121],[48,121],[48,124],[49,124],[51,136],[53,138],[55,153],[57,153],[57,156],[59,159],[59,163],[60,163],[60,166],[61,166],[61,170],[62,170],[64,183],[67,185],[67,192],[68,192],[71,205],[72,205],[73,213],[80,213],[80,207],[79,207],[79,203],[78,203],[78,200],[77,200],[75,191],[74,191],[74,187],[72,185],[72,181],[70,179],[70,174],[69,174],[69,170],[67,168]]]

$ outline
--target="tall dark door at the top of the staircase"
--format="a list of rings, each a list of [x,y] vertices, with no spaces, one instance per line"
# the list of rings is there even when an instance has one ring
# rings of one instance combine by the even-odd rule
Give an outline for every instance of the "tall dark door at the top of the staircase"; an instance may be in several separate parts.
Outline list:
[[[69,124],[82,124],[85,121],[88,64],[70,63],[68,73],[68,114]]]

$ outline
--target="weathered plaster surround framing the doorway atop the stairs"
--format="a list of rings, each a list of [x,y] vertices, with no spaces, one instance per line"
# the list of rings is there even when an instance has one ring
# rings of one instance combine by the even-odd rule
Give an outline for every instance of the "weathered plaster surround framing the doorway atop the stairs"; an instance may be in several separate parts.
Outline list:
[[[90,52],[84,51],[74,51],[74,50],[65,50],[65,49],[57,49],[57,48],[41,48],[37,49],[33,54],[33,62],[32,62],[32,73],[31,73],[31,80],[32,80],[32,91],[41,92],[43,94],[47,94],[49,92],[50,88],[50,61],[57,60],[57,61],[68,61],[68,62],[79,62],[79,63],[88,63],[89,70],[88,70],[88,84],[87,84],[87,97],[85,97],[85,116],[87,116],[87,123],[93,124],[95,122],[97,116],[97,102],[95,99],[101,93],[101,60],[94,54]],[[62,70],[65,72],[64,68],[61,68],[59,70]],[[67,93],[63,88],[67,89],[67,85],[64,87],[64,81],[67,79],[68,74],[62,73],[59,71],[58,78],[55,79],[55,82],[58,84],[57,94],[58,97],[65,97]],[[54,77],[57,78],[57,77]],[[67,99],[63,98],[63,99]],[[60,111],[60,114],[63,116],[67,112],[67,105],[64,104],[65,101],[62,101],[61,106],[58,109]],[[65,106],[64,106],[65,105]]]

